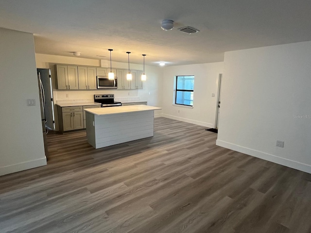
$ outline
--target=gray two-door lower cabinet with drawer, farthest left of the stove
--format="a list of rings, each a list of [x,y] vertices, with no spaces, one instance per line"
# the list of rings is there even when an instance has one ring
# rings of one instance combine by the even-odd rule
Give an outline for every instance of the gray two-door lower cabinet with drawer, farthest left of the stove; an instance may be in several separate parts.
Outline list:
[[[58,122],[62,132],[83,129],[83,106],[58,106]]]

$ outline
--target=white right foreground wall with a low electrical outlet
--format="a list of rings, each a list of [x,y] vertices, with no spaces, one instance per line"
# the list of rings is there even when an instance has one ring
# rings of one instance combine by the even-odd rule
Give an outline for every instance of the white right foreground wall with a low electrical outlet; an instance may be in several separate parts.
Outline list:
[[[311,41],[225,52],[217,145],[311,173],[310,61]]]

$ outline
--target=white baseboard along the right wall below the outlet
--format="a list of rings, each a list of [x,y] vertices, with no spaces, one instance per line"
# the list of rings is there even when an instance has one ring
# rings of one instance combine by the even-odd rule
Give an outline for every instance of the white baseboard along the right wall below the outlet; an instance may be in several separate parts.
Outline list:
[[[267,160],[267,161],[270,161],[276,164],[288,166],[288,167],[291,167],[291,168],[294,168],[300,171],[311,173],[311,166],[308,164],[303,164],[303,163],[300,163],[294,160],[285,159],[285,158],[278,157],[273,154],[268,154],[268,153],[265,153],[259,150],[253,150],[250,148],[242,147],[242,146],[228,143],[222,140],[216,140],[216,145],[230,149],[230,150],[235,150],[235,151],[238,151],[244,154],[248,154],[248,155],[260,158],[260,159],[264,159],[264,160]]]

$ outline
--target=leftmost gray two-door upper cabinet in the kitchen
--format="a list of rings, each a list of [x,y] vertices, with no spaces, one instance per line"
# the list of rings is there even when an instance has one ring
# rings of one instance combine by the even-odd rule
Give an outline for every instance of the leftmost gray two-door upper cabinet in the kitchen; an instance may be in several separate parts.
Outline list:
[[[78,82],[78,67],[56,65],[57,89],[60,90],[77,90],[79,89]]]

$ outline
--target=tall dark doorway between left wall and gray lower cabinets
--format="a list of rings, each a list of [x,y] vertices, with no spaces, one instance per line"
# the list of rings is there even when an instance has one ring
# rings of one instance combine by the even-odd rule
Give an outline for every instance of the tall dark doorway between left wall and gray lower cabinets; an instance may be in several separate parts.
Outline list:
[[[50,69],[37,69],[37,75],[41,80],[43,86],[42,98],[43,98],[43,111],[44,118],[46,120],[45,125],[47,129],[55,129],[54,121],[54,104],[53,104],[53,92],[52,92],[52,79]]]

